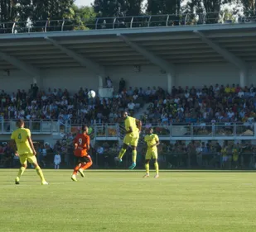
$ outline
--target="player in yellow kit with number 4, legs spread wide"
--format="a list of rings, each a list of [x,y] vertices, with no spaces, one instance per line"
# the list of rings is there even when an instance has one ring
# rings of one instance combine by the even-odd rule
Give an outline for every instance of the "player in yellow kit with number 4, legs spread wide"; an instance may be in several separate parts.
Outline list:
[[[44,178],[41,168],[37,163],[36,150],[31,140],[30,130],[24,128],[24,121],[22,120],[18,120],[16,125],[18,129],[12,132],[11,142],[13,145],[16,144],[17,149],[15,154],[19,156],[22,167],[19,169],[19,172],[17,173],[17,178],[15,179],[15,183],[16,184],[20,183],[20,178],[24,173],[25,169],[27,168],[27,161],[28,161],[29,163],[32,163],[33,166],[35,167],[36,173],[41,178],[41,184],[42,185],[48,184],[46,182],[46,179]]]

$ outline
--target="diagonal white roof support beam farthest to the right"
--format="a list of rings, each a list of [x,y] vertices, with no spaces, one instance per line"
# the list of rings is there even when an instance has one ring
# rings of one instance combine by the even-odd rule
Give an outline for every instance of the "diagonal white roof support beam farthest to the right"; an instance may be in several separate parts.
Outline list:
[[[205,35],[201,31],[193,31],[197,36],[200,37],[202,41],[205,42],[205,44],[209,45],[213,50],[215,50],[217,53],[221,54],[226,60],[228,60],[230,63],[234,64],[236,67],[238,67],[241,70],[247,70],[248,65],[244,62],[243,59],[240,59],[239,57],[236,57],[234,54],[230,53],[225,48],[220,47],[217,43],[213,42],[212,40],[205,37]]]

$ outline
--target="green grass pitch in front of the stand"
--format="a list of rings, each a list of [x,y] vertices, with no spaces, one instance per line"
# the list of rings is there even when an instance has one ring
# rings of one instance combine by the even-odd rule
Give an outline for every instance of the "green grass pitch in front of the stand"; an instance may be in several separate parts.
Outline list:
[[[256,173],[0,169],[0,231],[254,232]]]

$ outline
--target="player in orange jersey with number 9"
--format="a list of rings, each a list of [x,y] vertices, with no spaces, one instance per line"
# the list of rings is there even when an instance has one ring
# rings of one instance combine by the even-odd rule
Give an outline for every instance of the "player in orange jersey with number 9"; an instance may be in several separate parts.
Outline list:
[[[75,146],[75,157],[77,159],[77,165],[74,168],[73,175],[71,177],[72,181],[77,182],[76,175],[77,172],[80,173],[82,178],[85,178],[85,174],[83,171],[89,168],[93,161],[90,158],[89,152],[89,135],[88,135],[88,127],[86,125],[82,126],[82,133],[76,135],[74,140]]]

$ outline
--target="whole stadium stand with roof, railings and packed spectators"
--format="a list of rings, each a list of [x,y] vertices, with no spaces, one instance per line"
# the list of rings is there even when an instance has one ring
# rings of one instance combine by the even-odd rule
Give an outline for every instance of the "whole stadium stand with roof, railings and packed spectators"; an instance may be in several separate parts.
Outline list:
[[[162,167],[253,168],[254,23],[254,17],[231,23],[217,13],[101,18],[88,31],[65,19],[45,21],[43,27],[5,23],[0,36],[2,141],[9,138],[13,121],[24,118],[41,164],[52,167],[54,154],[60,153],[63,167],[70,167],[71,140],[86,123],[95,167],[115,167],[113,156],[123,138],[119,112],[127,109],[141,117],[144,129],[152,126],[160,136]],[[115,30],[102,30],[110,28]],[[114,82],[121,78],[119,91],[89,99],[88,89],[102,90],[107,76],[114,81],[107,78],[104,88],[118,90]],[[32,79],[38,87],[23,91]],[[20,91],[13,92],[14,82]],[[143,149],[141,140],[138,160]],[[16,165],[10,157],[12,152],[1,154],[1,165]]]

